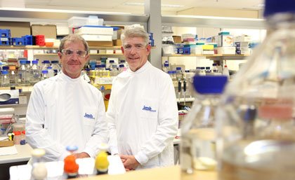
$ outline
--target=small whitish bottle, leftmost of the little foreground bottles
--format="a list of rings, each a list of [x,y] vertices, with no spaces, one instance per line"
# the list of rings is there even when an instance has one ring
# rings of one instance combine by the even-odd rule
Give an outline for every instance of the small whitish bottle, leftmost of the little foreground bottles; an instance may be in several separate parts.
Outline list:
[[[32,179],[43,180],[47,177],[46,165],[42,159],[45,155],[45,150],[42,148],[35,148],[32,151]]]

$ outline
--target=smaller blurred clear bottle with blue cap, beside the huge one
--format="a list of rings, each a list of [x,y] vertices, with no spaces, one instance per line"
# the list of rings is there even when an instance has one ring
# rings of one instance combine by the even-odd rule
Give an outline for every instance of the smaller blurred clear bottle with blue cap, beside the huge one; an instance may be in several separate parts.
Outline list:
[[[181,169],[214,170],[217,165],[215,148],[215,114],[226,76],[194,76],[196,97],[181,126]]]

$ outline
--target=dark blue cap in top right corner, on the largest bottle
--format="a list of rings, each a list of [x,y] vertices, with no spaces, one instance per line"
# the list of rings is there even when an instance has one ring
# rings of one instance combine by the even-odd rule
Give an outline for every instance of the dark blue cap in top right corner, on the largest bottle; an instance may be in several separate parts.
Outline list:
[[[275,13],[295,13],[294,1],[290,0],[265,0],[264,17]]]

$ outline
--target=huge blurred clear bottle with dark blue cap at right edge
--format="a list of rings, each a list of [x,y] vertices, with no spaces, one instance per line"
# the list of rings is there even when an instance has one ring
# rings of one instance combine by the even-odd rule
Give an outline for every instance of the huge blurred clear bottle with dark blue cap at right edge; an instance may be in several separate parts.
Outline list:
[[[220,180],[295,176],[295,6],[265,0],[268,35],[228,84],[218,110]]]

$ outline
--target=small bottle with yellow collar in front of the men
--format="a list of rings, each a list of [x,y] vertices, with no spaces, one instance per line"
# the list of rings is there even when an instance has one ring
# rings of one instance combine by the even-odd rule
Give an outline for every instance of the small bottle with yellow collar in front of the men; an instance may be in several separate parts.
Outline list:
[[[96,163],[95,167],[97,169],[96,174],[107,174],[108,167],[109,167],[109,161],[107,160],[107,144],[100,144],[98,146],[99,153],[96,156]]]

